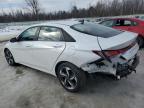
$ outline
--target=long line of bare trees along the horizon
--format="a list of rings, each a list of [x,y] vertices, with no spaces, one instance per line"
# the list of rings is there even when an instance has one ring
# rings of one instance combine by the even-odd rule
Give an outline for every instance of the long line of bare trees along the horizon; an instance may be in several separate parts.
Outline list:
[[[21,22],[38,20],[57,20],[68,18],[104,17],[144,13],[144,0],[99,0],[89,8],[73,6],[71,11],[44,13],[38,0],[25,0],[28,12],[22,9],[11,12],[1,12],[0,22]]]

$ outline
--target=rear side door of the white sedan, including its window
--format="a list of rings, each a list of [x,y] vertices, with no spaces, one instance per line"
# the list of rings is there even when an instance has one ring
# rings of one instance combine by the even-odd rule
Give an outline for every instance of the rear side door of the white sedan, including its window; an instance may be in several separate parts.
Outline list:
[[[51,73],[55,62],[65,49],[61,29],[48,26],[41,27],[38,41],[31,43],[30,48],[29,55],[32,57],[32,65]]]

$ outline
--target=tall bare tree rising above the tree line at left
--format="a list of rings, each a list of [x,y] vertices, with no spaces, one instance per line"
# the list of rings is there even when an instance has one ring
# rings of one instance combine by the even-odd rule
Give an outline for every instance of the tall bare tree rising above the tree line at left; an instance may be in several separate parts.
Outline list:
[[[25,2],[29,6],[32,15],[38,17],[40,12],[40,6],[38,0],[25,0]]]

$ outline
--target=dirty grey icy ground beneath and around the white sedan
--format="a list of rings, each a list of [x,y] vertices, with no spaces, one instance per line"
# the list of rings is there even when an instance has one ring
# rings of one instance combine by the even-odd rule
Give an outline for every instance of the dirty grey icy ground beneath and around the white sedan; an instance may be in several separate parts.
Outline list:
[[[0,108],[144,108],[144,50],[137,74],[114,81],[89,79],[80,93],[66,92],[43,72],[6,63],[0,43]]]

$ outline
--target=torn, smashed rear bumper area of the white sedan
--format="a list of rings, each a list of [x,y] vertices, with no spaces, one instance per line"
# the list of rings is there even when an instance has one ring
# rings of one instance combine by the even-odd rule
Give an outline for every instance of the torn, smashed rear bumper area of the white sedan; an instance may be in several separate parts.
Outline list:
[[[117,60],[116,60],[117,61]],[[110,63],[107,60],[97,60],[93,63],[85,64],[81,67],[82,70],[88,73],[106,73],[114,76],[125,77],[132,72],[135,72],[139,64],[139,56],[134,56],[127,62]]]

